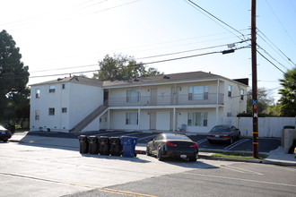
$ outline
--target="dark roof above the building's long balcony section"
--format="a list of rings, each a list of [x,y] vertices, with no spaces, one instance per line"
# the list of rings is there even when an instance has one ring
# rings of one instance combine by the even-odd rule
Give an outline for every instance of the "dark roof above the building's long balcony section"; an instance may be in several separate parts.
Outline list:
[[[126,86],[126,85],[140,85],[149,83],[170,83],[176,81],[196,81],[222,78],[220,75],[205,72],[190,72],[190,73],[172,73],[165,75],[158,75],[152,77],[142,77],[132,80],[123,81],[104,81],[104,87]]]

